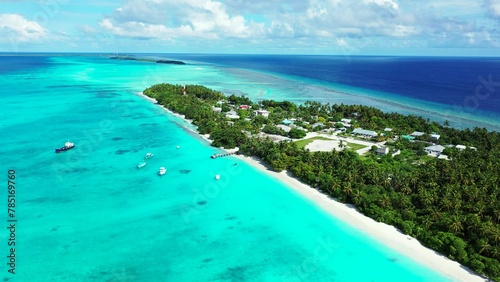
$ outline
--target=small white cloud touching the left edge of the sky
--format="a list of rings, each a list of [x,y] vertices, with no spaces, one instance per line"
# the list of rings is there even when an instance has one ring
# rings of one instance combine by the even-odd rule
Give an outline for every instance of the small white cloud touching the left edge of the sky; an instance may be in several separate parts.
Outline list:
[[[0,35],[13,42],[30,42],[45,38],[47,30],[21,15],[0,14]]]

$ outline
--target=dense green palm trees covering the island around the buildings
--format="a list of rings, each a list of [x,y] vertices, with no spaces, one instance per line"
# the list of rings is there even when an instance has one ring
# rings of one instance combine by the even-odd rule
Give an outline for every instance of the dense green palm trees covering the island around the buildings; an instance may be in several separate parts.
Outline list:
[[[329,105],[306,102],[262,101],[225,98],[202,86],[161,84],[144,93],[168,109],[186,115],[210,134],[212,145],[253,155],[274,170],[289,170],[295,177],[341,202],[352,203],[377,221],[399,228],[422,244],[456,260],[479,274],[500,281],[500,134],[484,128],[458,130],[418,116],[384,113],[373,107]],[[226,99],[228,105],[247,104],[265,108],[268,118],[250,114],[228,121],[212,106]],[[241,111],[240,111],[241,112]],[[291,141],[273,142],[259,138],[262,128],[274,128],[285,118],[314,130],[339,127],[341,118],[352,119],[353,127],[393,131],[377,137],[388,139],[395,157],[375,154],[359,156],[352,150],[314,152]],[[312,126],[314,123],[323,125]],[[302,130],[302,129],[300,129]],[[427,133],[418,142],[393,138],[413,131]],[[431,140],[429,133],[441,135]],[[280,133],[280,132],[277,132]],[[447,148],[450,160],[426,156],[428,142],[462,144],[477,149]]]

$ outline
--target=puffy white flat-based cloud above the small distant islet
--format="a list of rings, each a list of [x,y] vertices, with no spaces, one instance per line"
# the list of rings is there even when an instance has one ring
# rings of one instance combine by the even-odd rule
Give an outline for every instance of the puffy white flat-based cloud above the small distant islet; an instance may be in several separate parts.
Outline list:
[[[248,38],[261,29],[212,0],[129,0],[100,25],[119,36],[165,40]]]

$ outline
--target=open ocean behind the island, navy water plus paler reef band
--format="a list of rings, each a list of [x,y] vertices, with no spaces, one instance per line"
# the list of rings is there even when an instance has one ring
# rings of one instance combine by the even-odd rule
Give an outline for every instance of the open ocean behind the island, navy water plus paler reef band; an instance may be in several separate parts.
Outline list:
[[[500,58],[388,57],[313,55],[157,54],[158,57],[207,62],[247,69],[329,88],[308,99],[339,102],[336,94],[360,94],[347,101],[385,111],[416,114],[454,126],[500,129]],[[253,96],[250,94],[250,96]],[[291,97],[294,99],[295,93]],[[277,98],[282,98],[277,96]],[[380,102],[383,100],[385,102]],[[344,102],[340,100],[340,102]],[[485,118],[482,120],[482,118]],[[458,121],[460,119],[460,121]]]

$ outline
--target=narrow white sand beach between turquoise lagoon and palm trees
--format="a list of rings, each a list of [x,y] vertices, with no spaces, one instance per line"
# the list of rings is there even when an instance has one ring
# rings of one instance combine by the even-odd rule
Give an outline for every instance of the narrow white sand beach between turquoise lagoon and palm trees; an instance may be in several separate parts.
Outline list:
[[[138,94],[143,98],[157,104],[157,101],[155,99],[144,95],[142,92],[139,92]],[[161,107],[167,113],[182,119],[187,124],[191,123],[189,120],[185,119],[183,115],[174,113],[163,106]],[[186,129],[193,131],[189,128]],[[211,140],[208,139],[208,136],[201,135],[197,132],[194,133],[196,133],[196,135],[201,139],[207,141],[208,144],[211,143]],[[227,152],[234,152],[234,149],[220,149]],[[255,157],[248,157],[243,155],[234,155],[234,157],[241,161],[244,161],[260,172],[277,179],[279,182],[285,184],[286,187],[300,194],[305,199],[312,202],[312,204],[320,207],[323,211],[327,212],[331,216],[343,221],[354,229],[367,234],[382,245],[405,255],[411,260],[429,269],[433,269],[434,271],[442,274],[449,279],[452,279],[452,281],[488,281],[485,278],[475,274],[460,263],[450,260],[447,257],[437,253],[436,251],[423,246],[417,239],[401,233],[394,226],[377,222],[374,219],[358,212],[355,208],[350,207],[348,204],[340,203],[335,199],[330,198],[326,194],[319,192],[313,187],[300,182],[298,179],[290,176],[287,171],[272,171],[260,159]]]

